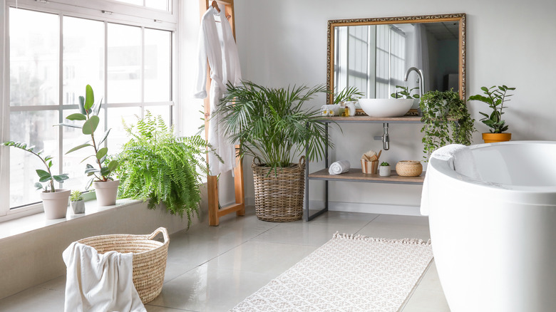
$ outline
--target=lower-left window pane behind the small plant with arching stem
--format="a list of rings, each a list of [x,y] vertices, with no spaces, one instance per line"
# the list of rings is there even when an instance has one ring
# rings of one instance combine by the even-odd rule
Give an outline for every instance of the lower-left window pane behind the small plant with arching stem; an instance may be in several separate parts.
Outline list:
[[[28,146],[35,145],[36,151],[44,150],[43,156],[53,156],[53,175],[61,173],[58,172],[58,127],[52,126],[56,123],[57,110],[10,114],[11,140],[26,142]],[[10,207],[41,201],[40,191],[34,187],[35,182],[38,182],[37,169],[46,170],[38,157],[15,147],[10,148]]]

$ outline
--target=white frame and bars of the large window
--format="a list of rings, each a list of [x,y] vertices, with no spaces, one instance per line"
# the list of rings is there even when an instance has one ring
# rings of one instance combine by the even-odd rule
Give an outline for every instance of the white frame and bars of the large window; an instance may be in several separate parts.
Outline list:
[[[72,16],[83,19],[93,19],[96,21],[103,21],[105,29],[107,23],[125,24],[129,26],[139,26],[142,33],[142,49],[144,50],[144,33],[145,28],[153,28],[163,31],[172,31],[172,64],[171,73],[172,78],[170,81],[170,101],[168,103],[150,103],[145,105],[144,92],[141,95],[141,103],[117,103],[108,104],[107,108],[126,107],[133,105],[133,107],[142,106],[143,112],[145,106],[150,105],[173,105],[173,113],[170,118],[173,118],[176,125],[180,125],[180,111],[177,105],[177,99],[180,96],[179,88],[179,75],[177,68],[179,63],[178,49],[180,46],[178,31],[178,14],[180,10],[178,0],[170,0],[170,11],[162,11],[157,9],[149,9],[144,6],[137,6],[133,4],[125,4],[117,1],[110,0],[0,0],[0,26],[3,31],[0,31],[0,142],[9,140],[9,115],[10,111],[14,108],[9,107],[9,7],[14,6],[21,9],[30,9],[34,11],[42,11],[45,13],[58,14],[58,16]],[[145,3],[143,1],[143,3]],[[62,32],[63,28],[60,28]],[[107,36],[105,36],[105,46],[107,47]],[[106,53],[106,52],[105,52]],[[60,58],[62,54],[60,53]],[[107,59],[105,58],[105,86],[107,89]],[[142,64],[141,68],[145,68],[144,51],[142,51]],[[58,77],[60,81],[60,88],[62,84],[63,75]],[[145,77],[142,75],[141,85],[144,87]],[[144,88],[143,88],[144,91]],[[60,90],[60,100],[62,100],[63,93]],[[62,103],[62,102],[61,102]],[[56,110],[60,112],[62,109],[75,109],[77,105],[60,105]],[[36,110],[44,110],[45,107],[41,106]],[[14,110],[21,110],[15,108]],[[34,110],[33,108],[24,108],[24,110]],[[61,135],[61,132],[60,132]],[[58,147],[61,149],[61,146]],[[61,155],[61,151],[58,151]],[[9,185],[9,147],[0,147],[0,185]],[[61,162],[60,162],[61,165]],[[0,222],[24,217],[29,214],[42,212],[42,203],[29,204],[25,207],[18,209],[10,209],[9,207],[9,187],[0,187]]]

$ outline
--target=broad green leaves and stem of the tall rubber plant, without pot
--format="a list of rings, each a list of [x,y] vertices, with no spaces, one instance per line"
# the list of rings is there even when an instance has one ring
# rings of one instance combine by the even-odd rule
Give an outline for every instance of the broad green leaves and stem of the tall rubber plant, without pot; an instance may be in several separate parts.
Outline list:
[[[80,128],[81,132],[83,132],[83,135],[91,137],[90,140],[87,140],[83,144],[73,147],[71,150],[68,150],[68,152],[66,152],[66,154],[69,154],[71,152],[75,152],[76,150],[81,150],[83,147],[93,148],[93,154],[81,160],[81,162],[84,162],[90,157],[95,158],[95,166],[87,164],[85,168],[86,175],[88,177],[93,176],[87,183],[87,188],[91,186],[91,183],[95,178],[97,181],[101,182],[114,180],[111,175],[114,170],[118,168],[117,160],[111,160],[110,162],[108,162],[108,164],[105,163],[106,157],[108,156],[108,147],[102,147],[102,145],[108,137],[110,129],[104,132],[101,140],[98,140],[98,137],[95,137],[95,131],[98,127],[98,123],[100,123],[101,121],[101,118],[98,117],[98,113],[101,111],[101,105],[102,100],[95,105],[95,95],[93,93],[93,88],[91,88],[91,85],[86,85],[85,97],[79,97],[80,113],[74,113],[66,117],[67,120],[85,121],[83,125],[76,125],[73,123],[59,124],[71,128]]]

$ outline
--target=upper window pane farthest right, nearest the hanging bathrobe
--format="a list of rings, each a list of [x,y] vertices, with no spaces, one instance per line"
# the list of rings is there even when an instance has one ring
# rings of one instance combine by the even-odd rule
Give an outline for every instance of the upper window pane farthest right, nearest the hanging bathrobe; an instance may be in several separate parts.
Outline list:
[[[170,31],[145,29],[145,102],[170,100]]]

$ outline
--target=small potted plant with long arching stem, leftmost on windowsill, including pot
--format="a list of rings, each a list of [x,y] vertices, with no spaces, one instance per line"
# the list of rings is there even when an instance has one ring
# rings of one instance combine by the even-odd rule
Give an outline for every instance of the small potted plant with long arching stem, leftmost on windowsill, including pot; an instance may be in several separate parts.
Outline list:
[[[27,147],[26,143],[7,141],[2,143],[2,145],[16,147],[26,152],[38,157],[41,162],[43,162],[46,170],[38,169],[36,174],[38,175],[38,182],[35,183],[37,189],[43,189],[41,193],[41,199],[43,200],[43,208],[46,219],[61,219],[66,217],[66,212],[68,211],[68,197],[70,195],[69,189],[56,189],[54,187],[54,181],[63,183],[64,180],[68,179],[68,175],[63,173],[61,175],[52,175],[52,157],[50,155],[41,156],[43,151],[35,152],[34,146]],[[46,186],[43,186],[43,182],[48,182]]]

